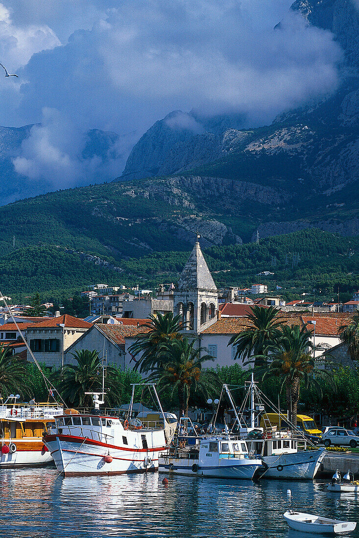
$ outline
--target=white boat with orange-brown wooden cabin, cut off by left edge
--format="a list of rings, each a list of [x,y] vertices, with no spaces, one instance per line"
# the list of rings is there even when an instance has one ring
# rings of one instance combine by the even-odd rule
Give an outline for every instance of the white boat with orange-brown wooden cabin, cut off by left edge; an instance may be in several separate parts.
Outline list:
[[[0,405],[0,468],[44,465],[52,461],[43,433],[64,413],[60,404],[18,403],[10,394]]]

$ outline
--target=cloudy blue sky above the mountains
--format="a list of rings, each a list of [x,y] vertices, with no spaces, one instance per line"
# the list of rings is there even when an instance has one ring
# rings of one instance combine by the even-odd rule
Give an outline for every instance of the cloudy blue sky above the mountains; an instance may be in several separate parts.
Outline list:
[[[236,112],[245,126],[333,91],[339,46],[287,0],[2,0],[0,124],[40,123],[14,160],[56,187],[120,175],[172,110]],[[274,26],[281,21],[280,28]],[[106,170],[88,129],[121,135]]]

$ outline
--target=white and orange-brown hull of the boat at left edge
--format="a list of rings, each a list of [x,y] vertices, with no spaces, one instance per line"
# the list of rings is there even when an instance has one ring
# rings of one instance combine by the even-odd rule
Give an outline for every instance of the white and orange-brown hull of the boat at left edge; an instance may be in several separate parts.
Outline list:
[[[15,452],[0,452],[0,469],[46,465],[52,462],[52,456],[42,440],[23,438],[22,440],[6,440],[3,445],[15,445]]]

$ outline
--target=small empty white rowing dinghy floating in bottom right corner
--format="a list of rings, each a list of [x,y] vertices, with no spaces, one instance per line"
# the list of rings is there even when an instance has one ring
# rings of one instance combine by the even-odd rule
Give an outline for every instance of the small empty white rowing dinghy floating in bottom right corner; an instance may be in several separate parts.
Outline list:
[[[339,521],[302,512],[286,512],[283,516],[289,527],[305,533],[348,534],[353,532],[356,527],[356,523],[353,521]]]

